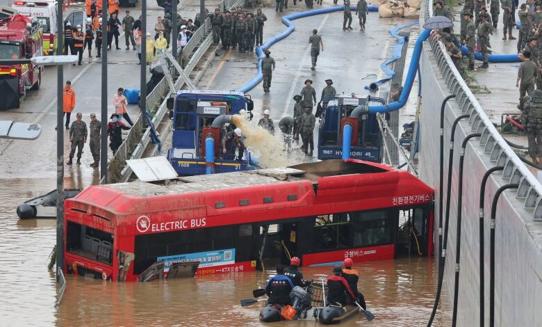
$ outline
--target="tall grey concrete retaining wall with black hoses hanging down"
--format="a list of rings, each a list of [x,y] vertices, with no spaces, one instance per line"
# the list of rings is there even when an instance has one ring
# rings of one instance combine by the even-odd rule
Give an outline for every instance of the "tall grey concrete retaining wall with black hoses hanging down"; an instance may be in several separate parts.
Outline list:
[[[439,70],[429,43],[420,59],[422,77],[422,110],[420,115],[420,177],[435,189],[435,248],[438,249],[438,174],[440,110],[450,90]],[[498,96],[498,95],[495,95]],[[461,115],[458,103],[451,99],[445,110],[444,183],[447,179],[450,129]],[[450,232],[447,244],[444,290],[453,298],[456,260],[457,181],[459,151],[463,138],[472,133],[468,120],[459,124],[455,135],[452,170]],[[479,186],[488,168],[495,165],[484,153],[477,138],[466,147],[463,171],[463,205],[461,232],[461,277],[457,326],[478,326],[479,322]],[[502,173],[493,173],[486,186],[485,199],[485,303],[486,325],[489,319],[489,215],[495,190],[509,183]],[[445,190],[445,189],[444,189]],[[444,196],[445,201],[445,196]],[[542,326],[542,223],[535,223],[532,209],[524,208],[524,199],[516,190],[502,193],[498,202],[495,232],[495,326]],[[435,256],[438,256],[438,250]]]

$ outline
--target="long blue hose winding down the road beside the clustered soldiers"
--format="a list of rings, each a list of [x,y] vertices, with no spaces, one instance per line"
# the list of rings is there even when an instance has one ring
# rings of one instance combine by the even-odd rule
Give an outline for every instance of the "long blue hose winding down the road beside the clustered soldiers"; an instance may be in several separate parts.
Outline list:
[[[327,14],[327,13],[334,13],[336,11],[342,11],[344,9],[345,9],[345,6],[334,6],[334,7],[329,7],[329,8],[308,10],[308,11],[303,11],[302,13],[294,13],[294,14],[283,16],[281,21],[282,21],[282,24],[287,26],[286,30],[282,31],[281,33],[277,35],[274,35],[272,38],[265,41],[265,43],[263,43],[261,47],[256,47],[256,55],[258,56],[258,74],[256,74],[256,77],[251,79],[244,86],[241,86],[240,88],[238,88],[238,91],[247,93],[249,90],[252,90],[254,86],[258,85],[258,83],[261,82],[261,80],[263,79],[263,75],[261,74],[261,60],[263,57],[265,57],[265,54],[263,54],[263,51],[269,49],[272,45],[286,38],[286,36],[290,35],[293,31],[295,31],[295,24],[292,22],[294,19],[310,17],[314,15],[322,15],[322,14]],[[356,6],[350,6],[350,10],[355,11]],[[368,6],[368,10],[378,11],[378,7]]]

